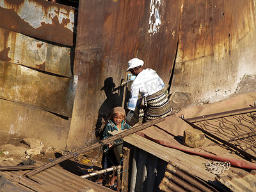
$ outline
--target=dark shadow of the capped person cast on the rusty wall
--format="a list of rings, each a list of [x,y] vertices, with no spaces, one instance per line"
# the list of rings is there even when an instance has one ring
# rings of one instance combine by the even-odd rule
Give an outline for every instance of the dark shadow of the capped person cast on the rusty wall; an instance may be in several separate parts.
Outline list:
[[[105,79],[104,86],[100,90],[104,90],[107,99],[104,100],[99,109],[98,120],[95,128],[95,136],[97,138],[100,137],[100,132],[102,131],[102,129],[104,129],[104,125],[108,121],[108,118],[111,115],[113,108],[115,108],[116,106],[122,106],[124,87],[118,86],[118,88],[115,88],[115,86],[116,85],[115,83],[113,83],[113,78],[108,77],[107,79]],[[118,93],[113,93],[116,90],[118,90]]]

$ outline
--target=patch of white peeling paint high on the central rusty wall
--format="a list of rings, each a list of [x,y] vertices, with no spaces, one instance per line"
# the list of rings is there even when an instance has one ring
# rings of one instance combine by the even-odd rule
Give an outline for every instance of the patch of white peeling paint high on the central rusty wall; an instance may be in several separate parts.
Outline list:
[[[152,35],[157,33],[158,29],[161,26],[161,17],[163,17],[163,15],[161,15],[161,13],[159,13],[159,10],[162,5],[163,4],[161,3],[161,0],[151,0],[151,2],[150,2],[150,16],[149,16],[149,23],[148,23],[148,26],[149,26],[148,33],[151,33]]]

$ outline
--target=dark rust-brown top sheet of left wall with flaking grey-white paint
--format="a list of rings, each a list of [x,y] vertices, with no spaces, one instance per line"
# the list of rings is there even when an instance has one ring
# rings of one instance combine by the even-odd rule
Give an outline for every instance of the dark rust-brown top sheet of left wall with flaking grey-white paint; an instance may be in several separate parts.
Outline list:
[[[1,0],[0,28],[63,45],[73,45],[74,8],[41,0]]]

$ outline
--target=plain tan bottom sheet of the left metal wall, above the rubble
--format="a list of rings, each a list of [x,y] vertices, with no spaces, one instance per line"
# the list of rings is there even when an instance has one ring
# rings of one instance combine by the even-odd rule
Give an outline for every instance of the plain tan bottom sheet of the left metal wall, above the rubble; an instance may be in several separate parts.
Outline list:
[[[0,132],[38,138],[47,147],[65,150],[70,119],[28,104],[0,99]]]

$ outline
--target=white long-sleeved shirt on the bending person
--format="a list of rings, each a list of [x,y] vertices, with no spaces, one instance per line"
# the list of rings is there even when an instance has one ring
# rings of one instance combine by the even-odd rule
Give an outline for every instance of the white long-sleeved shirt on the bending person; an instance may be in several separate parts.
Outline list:
[[[164,88],[163,80],[151,68],[143,69],[131,85],[131,98],[127,108],[134,111],[138,102],[139,93],[141,97],[152,95]]]

